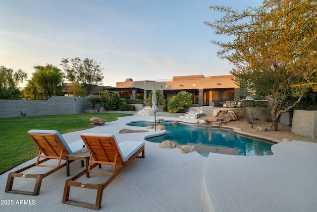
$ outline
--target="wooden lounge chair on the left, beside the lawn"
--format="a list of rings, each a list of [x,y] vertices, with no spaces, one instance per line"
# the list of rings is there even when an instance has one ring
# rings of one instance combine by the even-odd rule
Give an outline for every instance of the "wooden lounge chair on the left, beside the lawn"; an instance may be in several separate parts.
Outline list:
[[[69,146],[58,131],[54,130],[30,130],[27,135],[39,147],[39,154],[35,163],[26,166],[17,171],[11,172],[8,175],[8,180],[5,187],[5,192],[24,194],[24,195],[38,195],[40,193],[42,179],[52,174],[53,172],[66,166],[66,163],[61,164],[61,160],[66,159],[66,155],[72,153]],[[41,159],[40,158],[44,158]],[[43,162],[50,159],[57,159],[56,165],[45,165]],[[72,162],[72,161],[71,161]],[[22,171],[30,169],[34,166],[42,166],[53,168],[51,171],[44,174],[22,174]],[[35,178],[35,186],[33,192],[12,190],[14,177]]]

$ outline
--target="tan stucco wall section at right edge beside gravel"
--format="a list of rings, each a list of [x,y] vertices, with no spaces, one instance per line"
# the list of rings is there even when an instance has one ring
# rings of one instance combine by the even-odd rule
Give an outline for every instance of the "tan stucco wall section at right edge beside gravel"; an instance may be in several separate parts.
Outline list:
[[[317,111],[294,110],[292,133],[317,139]]]

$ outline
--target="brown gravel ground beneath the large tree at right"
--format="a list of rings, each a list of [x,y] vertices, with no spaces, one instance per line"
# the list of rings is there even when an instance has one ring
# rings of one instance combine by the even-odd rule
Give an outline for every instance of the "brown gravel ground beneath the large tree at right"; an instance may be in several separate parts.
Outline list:
[[[204,116],[201,117],[199,119],[208,119],[210,117],[208,116]],[[311,138],[307,138],[304,136],[300,136],[297,135],[295,133],[291,132],[292,126],[286,126],[286,125],[282,125],[280,123],[278,123],[277,126],[277,131],[272,131],[270,128],[270,125],[272,124],[271,122],[266,122],[266,121],[261,121],[261,120],[257,120],[255,121],[254,124],[249,124],[247,121],[243,120],[243,121],[231,121],[228,123],[225,123],[228,126],[232,126],[232,127],[238,127],[241,128],[242,131],[248,132],[248,133],[253,133],[253,134],[258,134],[258,135],[262,135],[262,136],[267,136],[267,137],[271,137],[271,138],[275,138],[275,139],[289,139],[289,140],[296,140],[296,141],[306,141],[306,142],[313,142],[313,143],[317,143],[317,139],[311,139]],[[253,128],[252,128],[253,126]],[[257,127],[265,127],[267,128],[267,131],[262,132],[262,131],[257,131]]]

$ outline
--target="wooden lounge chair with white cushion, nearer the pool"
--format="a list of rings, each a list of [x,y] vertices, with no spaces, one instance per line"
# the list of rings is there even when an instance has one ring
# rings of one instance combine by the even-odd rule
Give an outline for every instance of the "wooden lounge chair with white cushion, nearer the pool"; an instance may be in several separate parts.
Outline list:
[[[65,181],[64,194],[62,203],[80,206],[89,209],[99,210],[103,198],[103,190],[136,158],[144,157],[144,142],[139,141],[123,141],[117,143],[115,137],[110,134],[82,134],[80,136],[85,142],[89,152],[90,159],[88,168],[78,173],[71,179]],[[142,153],[141,156],[139,156]],[[110,165],[112,172],[104,172],[93,170],[97,165]],[[116,166],[121,166],[116,171]],[[87,172],[108,174],[111,177],[102,184],[82,184],[76,182],[78,178]],[[97,190],[96,204],[69,200],[70,187],[87,188]]]

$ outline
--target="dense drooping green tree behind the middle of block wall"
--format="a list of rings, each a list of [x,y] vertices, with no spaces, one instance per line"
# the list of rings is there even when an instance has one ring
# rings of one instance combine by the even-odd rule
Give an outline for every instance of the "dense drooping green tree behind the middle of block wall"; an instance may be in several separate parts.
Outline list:
[[[48,99],[52,95],[61,95],[62,72],[52,64],[35,66],[35,72],[26,86],[26,93],[32,99]]]

